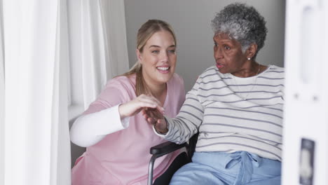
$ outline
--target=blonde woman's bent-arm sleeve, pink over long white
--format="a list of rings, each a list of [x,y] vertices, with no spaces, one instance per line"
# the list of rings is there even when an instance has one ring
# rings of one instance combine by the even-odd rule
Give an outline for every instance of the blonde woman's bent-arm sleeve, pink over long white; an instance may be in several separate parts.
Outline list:
[[[118,104],[129,101],[130,95],[135,92],[129,84],[115,79],[109,81],[97,100],[74,121],[70,130],[71,142],[88,147],[110,133],[127,128],[129,118],[121,120]]]

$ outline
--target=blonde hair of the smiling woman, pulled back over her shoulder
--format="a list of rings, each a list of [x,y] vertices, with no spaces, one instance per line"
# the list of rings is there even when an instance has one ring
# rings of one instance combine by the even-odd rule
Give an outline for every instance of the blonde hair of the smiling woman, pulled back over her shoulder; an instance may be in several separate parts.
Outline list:
[[[153,36],[153,34],[164,30],[172,34],[173,39],[175,40],[175,46],[177,46],[177,39],[175,38],[175,33],[173,32],[172,27],[167,22],[163,20],[148,20],[138,30],[137,49],[139,50],[139,52],[142,53],[144,45],[146,45],[146,42],[149,38],[151,38],[151,36]],[[136,74],[135,94],[137,96],[142,94],[149,94],[149,90],[142,76],[142,64],[139,61],[135,62],[133,67],[121,76],[130,76],[132,74]]]

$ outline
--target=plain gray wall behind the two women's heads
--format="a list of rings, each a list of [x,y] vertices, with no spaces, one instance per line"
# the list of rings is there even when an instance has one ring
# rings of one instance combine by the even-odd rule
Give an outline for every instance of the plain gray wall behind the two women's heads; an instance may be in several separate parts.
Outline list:
[[[177,34],[177,74],[185,81],[186,91],[207,67],[214,65],[213,32],[210,21],[231,0],[125,0],[125,22],[130,67],[135,56],[139,27],[149,19],[165,20]],[[257,8],[266,19],[268,36],[257,56],[261,64],[283,67],[285,35],[285,0],[239,1]]]

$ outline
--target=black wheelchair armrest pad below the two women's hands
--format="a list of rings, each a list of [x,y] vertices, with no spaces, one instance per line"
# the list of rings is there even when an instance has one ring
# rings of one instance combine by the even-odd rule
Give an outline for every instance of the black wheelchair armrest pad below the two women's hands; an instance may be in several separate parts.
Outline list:
[[[156,154],[156,156],[164,156],[165,154],[171,153],[172,151],[176,151],[177,149],[182,149],[183,147],[187,146],[187,143],[175,144],[173,142],[165,142],[151,147],[150,153],[153,155]]]

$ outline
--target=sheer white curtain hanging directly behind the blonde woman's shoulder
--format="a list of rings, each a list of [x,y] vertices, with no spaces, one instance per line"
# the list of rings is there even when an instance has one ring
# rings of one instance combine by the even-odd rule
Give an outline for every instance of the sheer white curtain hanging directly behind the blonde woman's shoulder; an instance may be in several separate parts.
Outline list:
[[[109,78],[128,70],[124,1],[81,1],[84,109]]]

